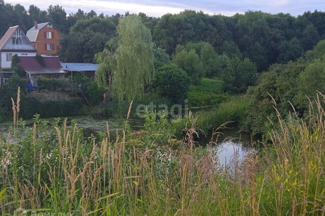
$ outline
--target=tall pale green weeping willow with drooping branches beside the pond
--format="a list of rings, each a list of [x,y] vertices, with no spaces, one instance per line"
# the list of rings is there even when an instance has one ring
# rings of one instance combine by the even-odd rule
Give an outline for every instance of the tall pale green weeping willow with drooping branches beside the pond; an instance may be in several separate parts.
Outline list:
[[[133,100],[144,94],[154,72],[153,42],[150,30],[136,15],[126,16],[117,26],[118,37],[107,43],[96,55],[100,63],[96,71],[99,85],[110,83],[119,100]]]

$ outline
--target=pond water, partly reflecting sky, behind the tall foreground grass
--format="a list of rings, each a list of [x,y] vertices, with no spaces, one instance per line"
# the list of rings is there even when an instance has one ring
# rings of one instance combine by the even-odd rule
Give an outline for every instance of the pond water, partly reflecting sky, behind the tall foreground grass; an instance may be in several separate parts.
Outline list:
[[[84,129],[85,137],[90,137],[91,134],[96,135],[99,131],[106,132],[106,122],[109,123],[110,131],[112,137],[115,136],[116,130],[119,133],[122,132],[124,128],[125,119],[112,119],[105,116],[74,116],[68,117],[68,121],[72,119],[76,120],[78,127]],[[53,118],[45,118],[45,120],[51,122]],[[26,120],[26,124],[32,126],[33,121]],[[129,124],[133,129],[141,129],[143,127],[144,121],[142,119],[129,119]],[[0,136],[7,137],[8,130],[13,125],[10,121],[0,123]],[[239,161],[241,161],[244,156],[252,150],[251,143],[254,139],[247,134],[238,133],[239,128],[234,126],[233,128],[226,128],[219,131],[221,134],[217,141],[214,137],[212,150],[216,152],[215,159],[219,160],[221,166],[226,166],[230,163],[231,158],[235,155]],[[211,135],[206,137],[200,137],[199,144],[206,146],[211,140]]]

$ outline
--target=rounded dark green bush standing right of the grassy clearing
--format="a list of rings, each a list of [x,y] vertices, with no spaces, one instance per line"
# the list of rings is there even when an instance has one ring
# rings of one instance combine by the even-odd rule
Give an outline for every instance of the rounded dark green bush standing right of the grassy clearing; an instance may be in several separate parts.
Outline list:
[[[229,61],[221,79],[223,91],[234,94],[245,93],[247,88],[254,85],[257,79],[256,65],[248,58],[244,60],[233,58]]]

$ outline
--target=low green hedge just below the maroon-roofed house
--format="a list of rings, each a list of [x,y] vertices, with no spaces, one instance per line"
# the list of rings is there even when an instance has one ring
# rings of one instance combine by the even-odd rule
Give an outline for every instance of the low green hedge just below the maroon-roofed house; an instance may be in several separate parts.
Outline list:
[[[58,88],[68,87],[70,80],[63,76],[60,78],[37,76],[36,82],[39,90],[56,91]]]

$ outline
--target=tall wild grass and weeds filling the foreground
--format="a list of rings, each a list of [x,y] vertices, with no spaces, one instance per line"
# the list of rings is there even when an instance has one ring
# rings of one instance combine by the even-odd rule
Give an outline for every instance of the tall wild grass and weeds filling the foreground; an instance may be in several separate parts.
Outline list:
[[[1,213],[20,207],[54,215],[323,215],[321,101],[325,96],[310,103],[306,120],[279,115],[280,129],[269,132],[272,147],[242,163],[235,157],[225,170],[210,145],[194,147],[199,128],[192,115],[176,149],[148,145],[151,136],[128,132],[127,122],[112,142],[109,125],[103,140],[85,140],[77,124],[37,121],[19,129],[23,136],[0,139]]]

